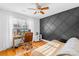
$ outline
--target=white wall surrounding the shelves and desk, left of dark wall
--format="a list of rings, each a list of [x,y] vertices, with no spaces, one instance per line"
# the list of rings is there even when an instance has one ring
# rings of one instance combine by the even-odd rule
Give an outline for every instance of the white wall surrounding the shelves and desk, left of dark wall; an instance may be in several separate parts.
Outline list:
[[[26,20],[29,25],[29,29],[31,29],[34,34],[36,32],[40,32],[39,19],[0,10],[0,50],[5,50],[13,45],[11,20],[14,18]]]

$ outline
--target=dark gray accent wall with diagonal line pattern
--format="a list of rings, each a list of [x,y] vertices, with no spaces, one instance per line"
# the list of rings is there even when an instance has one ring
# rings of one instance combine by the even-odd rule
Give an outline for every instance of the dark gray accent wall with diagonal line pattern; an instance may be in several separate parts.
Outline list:
[[[40,19],[40,32],[46,40],[79,36],[79,7]]]

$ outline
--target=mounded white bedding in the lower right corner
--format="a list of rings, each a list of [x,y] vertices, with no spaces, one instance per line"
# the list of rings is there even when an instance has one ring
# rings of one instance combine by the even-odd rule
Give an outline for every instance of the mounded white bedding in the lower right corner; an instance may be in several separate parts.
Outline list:
[[[59,51],[57,55],[72,55],[78,56],[79,55],[79,39],[78,38],[71,38],[67,41],[65,46]]]

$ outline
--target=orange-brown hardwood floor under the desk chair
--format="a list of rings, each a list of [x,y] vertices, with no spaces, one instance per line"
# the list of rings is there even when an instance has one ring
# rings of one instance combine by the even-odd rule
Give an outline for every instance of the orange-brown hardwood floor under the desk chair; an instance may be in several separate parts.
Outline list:
[[[44,44],[46,44],[47,42],[45,41],[38,41],[38,42],[33,42],[32,45],[33,45],[33,48],[38,48]],[[0,56],[31,56],[31,52],[32,50],[30,51],[26,51],[24,50],[25,46],[20,46],[16,49],[7,49],[7,50],[3,50],[3,51],[0,51]],[[18,51],[19,53],[17,54]]]

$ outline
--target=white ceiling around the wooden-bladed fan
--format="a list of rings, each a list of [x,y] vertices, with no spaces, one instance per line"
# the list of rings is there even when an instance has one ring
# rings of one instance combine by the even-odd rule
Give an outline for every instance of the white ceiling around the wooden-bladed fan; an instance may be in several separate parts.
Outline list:
[[[42,6],[45,6],[44,4],[41,4]],[[21,14],[25,14],[31,17],[36,18],[44,18],[49,15],[53,15],[74,7],[78,7],[79,3],[48,3],[49,10],[46,14],[33,14],[34,10],[29,10],[28,8],[35,8],[36,5],[34,3],[0,3],[0,8],[6,9],[13,12],[18,12]]]

